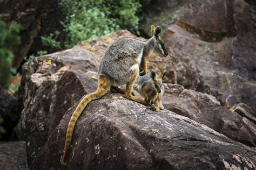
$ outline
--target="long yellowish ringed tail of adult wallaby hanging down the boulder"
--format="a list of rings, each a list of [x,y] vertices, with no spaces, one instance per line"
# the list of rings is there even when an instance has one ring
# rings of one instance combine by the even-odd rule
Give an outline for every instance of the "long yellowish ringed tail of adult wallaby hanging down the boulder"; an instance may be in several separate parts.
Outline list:
[[[77,105],[76,110],[73,112],[70,118],[68,130],[66,132],[65,146],[64,146],[64,151],[63,151],[62,160],[61,160],[61,163],[63,166],[66,166],[66,161],[67,161],[68,153],[70,150],[73,130],[75,128],[77,119],[81,115],[86,105],[91,101],[104,96],[107,92],[107,89],[109,89],[109,87],[110,87],[110,81],[105,77],[99,77],[97,90],[91,94],[84,96],[84,98]]]

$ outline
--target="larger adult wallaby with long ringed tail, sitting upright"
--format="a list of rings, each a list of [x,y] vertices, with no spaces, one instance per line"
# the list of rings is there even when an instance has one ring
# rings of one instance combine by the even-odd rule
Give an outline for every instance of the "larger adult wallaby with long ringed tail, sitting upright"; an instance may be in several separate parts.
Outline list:
[[[160,26],[152,25],[152,38],[149,40],[141,41],[133,38],[122,38],[113,42],[103,53],[98,69],[98,88],[95,92],[83,96],[69,121],[61,160],[62,165],[66,165],[77,119],[89,102],[102,97],[110,89],[112,92],[123,93],[125,98],[132,101],[146,104],[142,98],[132,95],[132,87],[139,74],[139,66],[141,64],[143,72],[145,72],[146,59],[151,52],[156,52],[161,56],[168,55],[164,42],[159,37],[160,33]],[[126,89],[118,87],[123,84],[126,84]]]

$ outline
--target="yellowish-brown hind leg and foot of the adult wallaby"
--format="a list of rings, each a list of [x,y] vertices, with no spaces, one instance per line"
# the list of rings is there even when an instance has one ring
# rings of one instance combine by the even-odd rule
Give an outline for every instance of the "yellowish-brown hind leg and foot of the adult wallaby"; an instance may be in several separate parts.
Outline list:
[[[139,72],[139,70],[134,70],[133,74],[131,75],[131,81],[126,83],[126,89],[125,89],[125,92],[124,92],[124,97],[128,98],[129,100],[132,100],[132,101],[138,102],[140,104],[146,105],[146,102],[142,98],[132,96],[132,87],[133,87],[134,82],[137,79],[138,72]]]

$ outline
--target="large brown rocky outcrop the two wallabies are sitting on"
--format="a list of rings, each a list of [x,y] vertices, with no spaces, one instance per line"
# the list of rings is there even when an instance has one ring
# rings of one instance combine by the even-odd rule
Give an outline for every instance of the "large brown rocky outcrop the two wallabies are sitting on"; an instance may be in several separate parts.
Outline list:
[[[31,169],[61,168],[66,126],[75,103],[96,89],[100,55],[122,37],[134,36],[118,31],[24,65],[19,138],[26,140]],[[153,58],[158,59],[150,67],[160,68],[160,61],[168,60]],[[255,150],[232,140],[255,146],[253,126],[246,126],[237,112],[226,110],[211,95],[178,84],[166,83],[165,89],[163,103],[173,112],[154,112],[112,93],[87,105],[76,125],[68,168],[255,167]]]

